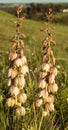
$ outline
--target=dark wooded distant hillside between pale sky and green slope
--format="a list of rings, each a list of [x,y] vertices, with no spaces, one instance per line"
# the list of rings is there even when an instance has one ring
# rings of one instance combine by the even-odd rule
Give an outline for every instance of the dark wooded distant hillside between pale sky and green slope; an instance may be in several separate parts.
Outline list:
[[[0,10],[16,15],[16,8],[19,4],[0,4]],[[53,22],[68,25],[68,13],[63,13],[63,9],[68,9],[68,3],[62,4],[21,4],[23,6],[22,14],[26,18],[33,20],[45,20],[45,12],[49,7],[53,9]]]

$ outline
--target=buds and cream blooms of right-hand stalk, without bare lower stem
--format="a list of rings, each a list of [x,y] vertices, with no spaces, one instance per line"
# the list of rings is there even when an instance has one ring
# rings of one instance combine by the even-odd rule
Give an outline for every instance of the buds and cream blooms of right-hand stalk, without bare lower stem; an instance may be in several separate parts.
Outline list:
[[[45,32],[45,29],[42,30]],[[56,45],[50,29],[47,27],[47,37],[42,42],[43,57],[42,66],[38,82],[38,97],[35,101],[36,107],[43,105],[44,116],[54,110],[54,93],[57,92],[58,86],[55,82],[57,68],[55,67],[55,57],[51,45]]]

